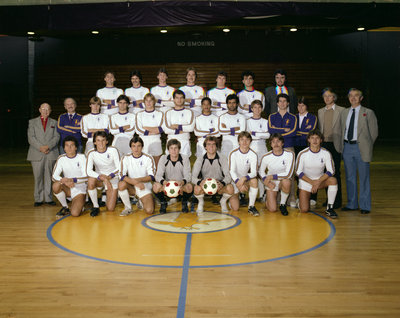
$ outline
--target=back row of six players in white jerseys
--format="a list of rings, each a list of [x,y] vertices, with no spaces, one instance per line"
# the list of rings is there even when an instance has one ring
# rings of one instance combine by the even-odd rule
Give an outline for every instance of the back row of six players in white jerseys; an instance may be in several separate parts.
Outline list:
[[[281,71],[284,72],[284,71]],[[226,87],[227,73],[221,71],[216,76],[216,87],[210,89],[207,94],[201,86],[196,85],[197,72],[194,68],[190,67],[186,70],[186,85],[179,88],[184,92],[185,99],[184,105],[193,110],[194,115],[201,114],[201,100],[203,97],[211,99],[212,112],[220,115],[227,110],[226,97],[231,94],[236,94],[233,89]],[[132,87],[127,88],[125,92],[114,87],[115,75],[113,72],[106,72],[104,81],[106,86],[97,91],[96,96],[101,100],[101,113],[112,115],[118,112],[117,98],[121,95],[126,95],[129,98],[129,112],[136,113],[145,108],[144,96],[149,92],[156,98],[156,107],[165,112],[171,107],[174,107],[173,93],[176,90],[167,84],[168,73],[164,68],[161,68],[157,73],[158,85],[149,90],[141,85],[142,75],[140,71],[134,70],[130,73],[130,81]],[[244,89],[237,95],[239,97],[239,113],[246,117],[251,117],[252,110],[250,104],[253,100],[260,100],[262,108],[265,106],[264,94],[254,89],[255,74],[251,71],[244,71],[242,73],[242,83]],[[287,89],[282,83],[281,92],[287,92]]]

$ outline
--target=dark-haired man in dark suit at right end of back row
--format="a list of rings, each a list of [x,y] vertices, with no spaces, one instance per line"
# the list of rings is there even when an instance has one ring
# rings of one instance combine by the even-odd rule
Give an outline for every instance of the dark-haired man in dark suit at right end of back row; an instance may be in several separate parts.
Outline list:
[[[278,111],[276,97],[279,94],[289,95],[289,113],[294,114],[297,110],[297,96],[292,87],[285,86],[287,81],[286,72],[278,69],[275,71],[274,78],[276,85],[265,89],[265,113],[267,117]]]

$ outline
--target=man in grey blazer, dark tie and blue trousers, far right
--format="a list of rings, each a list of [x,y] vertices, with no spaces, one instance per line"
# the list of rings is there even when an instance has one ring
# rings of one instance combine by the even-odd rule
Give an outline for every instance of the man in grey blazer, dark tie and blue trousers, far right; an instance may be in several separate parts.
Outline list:
[[[351,107],[346,108],[340,116],[347,187],[347,205],[342,210],[360,208],[361,214],[368,214],[371,211],[369,163],[372,161],[373,145],[378,137],[378,121],[372,109],[361,106],[363,95],[359,89],[351,88],[348,97]],[[359,200],[357,171],[360,181]]]

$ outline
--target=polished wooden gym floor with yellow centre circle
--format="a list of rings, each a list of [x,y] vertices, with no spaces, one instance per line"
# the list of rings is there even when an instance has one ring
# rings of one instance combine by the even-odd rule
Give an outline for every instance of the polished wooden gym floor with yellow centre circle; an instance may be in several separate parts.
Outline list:
[[[370,215],[326,220],[320,192],[316,214],[285,219],[258,203],[259,218],[242,208],[209,233],[203,223],[230,217],[171,213],[170,232],[151,229],[170,220],[142,212],[55,223],[59,206],[33,207],[25,150],[4,150],[0,317],[399,317],[400,153],[390,144],[376,146]]]

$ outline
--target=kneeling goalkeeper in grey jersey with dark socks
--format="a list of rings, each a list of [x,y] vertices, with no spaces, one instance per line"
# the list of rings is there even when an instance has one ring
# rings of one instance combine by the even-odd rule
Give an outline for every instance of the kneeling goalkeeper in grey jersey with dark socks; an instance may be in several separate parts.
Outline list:
[[[163,155],[158,162],[156,181],[153,191],[160,200],[160,213],[167,212],[167,201],[164,196],[164,188],[167,181],[177,181],[182,193],[182,212],[189,212],[188,199],[192,196],[193,186],[190,183],[192,174],[190,172],[189,157],[181,155],[181,143],[177,139],[167,142],[168,155]]]

